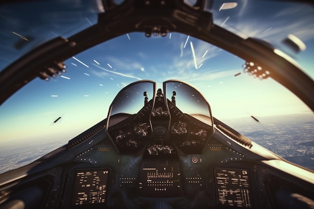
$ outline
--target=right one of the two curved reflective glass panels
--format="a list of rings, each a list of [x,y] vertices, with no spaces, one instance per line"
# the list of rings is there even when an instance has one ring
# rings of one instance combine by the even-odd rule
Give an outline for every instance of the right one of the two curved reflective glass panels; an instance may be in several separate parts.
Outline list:
[[[165,81],[164,92],[172,142],[185,153],[201,153],[214,132],[209,103],[198,90],[182,81]]]

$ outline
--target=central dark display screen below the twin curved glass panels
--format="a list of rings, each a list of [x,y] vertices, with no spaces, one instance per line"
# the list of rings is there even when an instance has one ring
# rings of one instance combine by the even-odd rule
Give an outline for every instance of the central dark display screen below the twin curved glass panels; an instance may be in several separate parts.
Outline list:
[[[181,173],[176,160],[145,160],[141,163],[140,195],[145,197],[182,196]]]

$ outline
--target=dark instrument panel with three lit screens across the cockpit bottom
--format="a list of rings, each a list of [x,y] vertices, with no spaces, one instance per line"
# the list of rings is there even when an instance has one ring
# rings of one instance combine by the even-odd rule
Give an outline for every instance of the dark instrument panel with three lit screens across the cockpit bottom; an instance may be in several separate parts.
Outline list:
[[[225,163],[226,156],[238,159],[236,166]],[[121,154],[110,140],[103,140],[75,157],[62,199],[67,201],[72,192],[71,204],[64,205],[74,208],[132,203],[133,208],[148,209],[161,200],[173,208],[253,208],[256,179],[253,167],[240,162],[244,159],[214,137],[202,154],[185,154],[169,144]]]

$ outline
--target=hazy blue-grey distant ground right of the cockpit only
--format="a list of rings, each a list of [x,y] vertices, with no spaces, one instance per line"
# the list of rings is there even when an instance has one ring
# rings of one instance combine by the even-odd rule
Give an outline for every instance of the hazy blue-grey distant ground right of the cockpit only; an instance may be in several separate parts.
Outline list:
[[[313,114],[236,120],[229,126],[284,159],[314,170]]]

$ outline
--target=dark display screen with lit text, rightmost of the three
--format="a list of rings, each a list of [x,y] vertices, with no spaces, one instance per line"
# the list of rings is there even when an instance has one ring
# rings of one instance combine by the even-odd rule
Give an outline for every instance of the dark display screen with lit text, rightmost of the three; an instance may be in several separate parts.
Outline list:
[[[224,207],[252,207],[248,169],[215,168],[214,173],[218,205]]]

